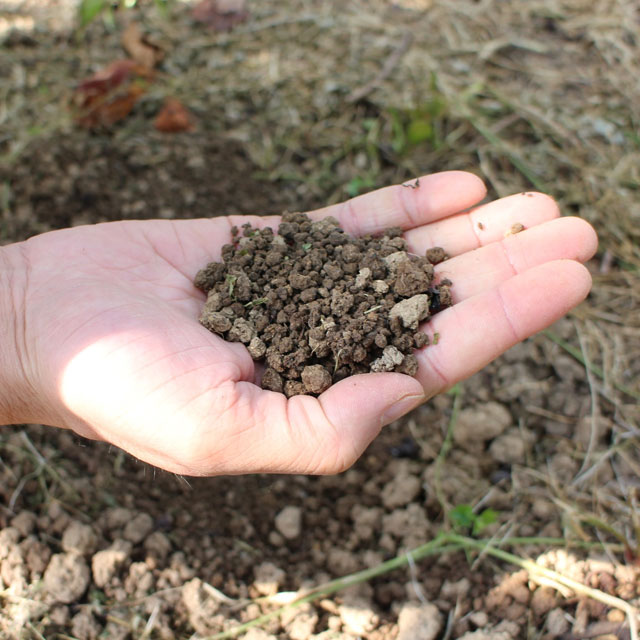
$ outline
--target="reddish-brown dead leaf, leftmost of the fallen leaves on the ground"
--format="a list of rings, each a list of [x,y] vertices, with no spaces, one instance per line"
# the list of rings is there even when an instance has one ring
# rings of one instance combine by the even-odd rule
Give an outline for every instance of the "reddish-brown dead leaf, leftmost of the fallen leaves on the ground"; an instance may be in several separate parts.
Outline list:
[[[146,92],[153,72],[135,60],[116,60],[83,80],[72,98],[74,119],[89,129],[125,118]]]

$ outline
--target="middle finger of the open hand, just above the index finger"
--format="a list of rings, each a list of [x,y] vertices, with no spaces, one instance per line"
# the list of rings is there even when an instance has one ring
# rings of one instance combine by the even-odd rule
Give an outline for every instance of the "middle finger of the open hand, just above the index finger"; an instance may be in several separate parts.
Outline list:
[[[557,218],[437,265],[439,279],[453,282],[454,304],[514,275],[552,260],[586,262],[596,252],[593,227],[580,218]]]

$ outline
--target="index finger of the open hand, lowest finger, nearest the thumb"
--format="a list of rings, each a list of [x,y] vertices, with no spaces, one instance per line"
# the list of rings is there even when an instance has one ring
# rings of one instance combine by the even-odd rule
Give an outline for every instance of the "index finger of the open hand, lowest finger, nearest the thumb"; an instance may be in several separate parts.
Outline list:
[[[418,352],[427,396],[474,374],[517,342],[553,324],[589,293],[591,276],[573,260],[532,267],[445,309],[424,326]],[[438,334],[437,344],[433,336]]]

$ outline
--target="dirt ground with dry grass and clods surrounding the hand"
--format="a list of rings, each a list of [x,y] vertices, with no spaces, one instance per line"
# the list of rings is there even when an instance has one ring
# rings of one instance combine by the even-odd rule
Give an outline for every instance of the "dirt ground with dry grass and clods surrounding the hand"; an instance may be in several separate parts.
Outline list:
[[[481,174],[491,197],[547,191],[601,237],[584,305],[387,427],[337,477],[187,480],[68,432],[3,428],[0,636],[206,637],[394,558],[403,566],[244,637],[632,636],[636,2],[256,0],[228,33],[183,3],[170,19],[138,5],[80,33],[67,3],[0,10],[2,243],[109,220],[305,210],[440,169]],[[124,55],[130,19],[162,46],[161,79],[117,126],[80,130],[74,87]],[[154,130],[167,95],[194,131]],[[592,591],[484,552],[409,561],[443,532],[473,535],[487,510],[476,536]]]

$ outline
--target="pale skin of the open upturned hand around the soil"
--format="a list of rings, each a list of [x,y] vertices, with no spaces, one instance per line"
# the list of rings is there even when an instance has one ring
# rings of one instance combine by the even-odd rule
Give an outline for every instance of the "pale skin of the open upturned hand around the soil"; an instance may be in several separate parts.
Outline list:
[[[442,246],[454,306],[423,330],[416,378],[347,378],[319,398],[257,386],[244,346],[199,325],[193,278],[230,227],[276,217],[113,222],[0,248],[0,424],[35,422],[111,442],[187,475],[337,473],[380,429],[579,304],[597,239],[552,199],[475,206],[485,187],[445,172],[313,212],[352,234],[401,226],[410,250]],[[462,212],[462,213],[460,213]],[[525,230],[505,237],[513,224]]]

